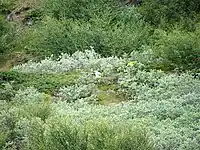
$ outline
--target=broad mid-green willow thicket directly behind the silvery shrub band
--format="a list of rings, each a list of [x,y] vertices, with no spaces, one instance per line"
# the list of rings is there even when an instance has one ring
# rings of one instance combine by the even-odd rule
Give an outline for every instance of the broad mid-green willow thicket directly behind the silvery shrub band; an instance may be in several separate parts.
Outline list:
[[[131,10],[134,11],[134,10]],[[133,12],[132,12],[133,13]],[[123,13],[119,14],[123,18]],[[122,55],[147,44],[151,28],[138,21],[137,16],[125,18],[132,22],[124,23],[109,16],[93,18],[90,21],[58,21],[47,17],[41,24],[27,31],[18,40],[18,49],[40,56],[59,56],[61,53],[72,54],[93,46],[95,51],[104,56]]]

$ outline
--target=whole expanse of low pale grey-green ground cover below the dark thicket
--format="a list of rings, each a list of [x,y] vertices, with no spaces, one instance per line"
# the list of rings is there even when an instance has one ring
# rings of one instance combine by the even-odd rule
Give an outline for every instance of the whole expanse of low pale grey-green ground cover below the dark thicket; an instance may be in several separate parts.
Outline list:
[[[131,58],[100,57],[93,50],[47,60],[30,61],[14,67],[13,74],[1,75],[5,83],[10,82],[2,85],[2,94],[7,94],[1,97],[3,149],[199,148],[198,78],[149,70]],[[58,64],[62,67],[53,66]],[[48,80],[49,73],[54,78],[51,71],[68,78],[74,70],[79,71],[76,83],[58,84],[60,89],[53,94],[40,86],[17,89],[14,85],[22,73],[37,76],[43,71],[47,74],[43,80]]]

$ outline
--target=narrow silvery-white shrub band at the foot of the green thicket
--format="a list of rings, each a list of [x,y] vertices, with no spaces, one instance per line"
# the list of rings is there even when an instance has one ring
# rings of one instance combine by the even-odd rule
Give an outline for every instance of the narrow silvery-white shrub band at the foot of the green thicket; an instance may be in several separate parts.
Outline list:
[[[86,50],[85,52],[77,51],[72,55],[63,54],[58,60],[53,60],[50,57],[39,63],[29,61],[26,64],[15,66],[13,70],[21,72],[60,73],[86,68],[108,73],[121,64],[123,64],[122,59],[117,57],[101,58],[100,55],[94,52],[93,47],[91,47],[91,50]]]

